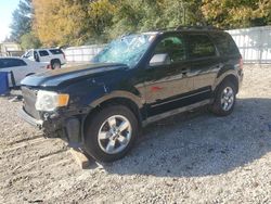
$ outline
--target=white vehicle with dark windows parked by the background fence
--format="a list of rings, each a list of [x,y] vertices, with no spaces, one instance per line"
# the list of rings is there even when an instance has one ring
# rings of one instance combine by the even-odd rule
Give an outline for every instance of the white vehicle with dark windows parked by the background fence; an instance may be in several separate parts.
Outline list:
[[[44,62],[51,65],[52,69],[61,68],[66,63],[64,52],[59,48],[31,49],[28,50],[23,58],[36,62]]]

